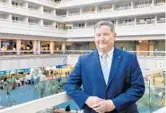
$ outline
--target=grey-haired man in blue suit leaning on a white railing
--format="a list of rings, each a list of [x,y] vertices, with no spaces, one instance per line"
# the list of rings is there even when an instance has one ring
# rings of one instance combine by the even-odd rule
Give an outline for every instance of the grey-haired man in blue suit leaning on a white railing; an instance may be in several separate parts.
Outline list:
[[[85,113],[138,113],[135,103],[145,91],[142,72],[134,54],[114,47],[115,36],[111,22],[98,22],[97,50],[79,57],[64,84]]]

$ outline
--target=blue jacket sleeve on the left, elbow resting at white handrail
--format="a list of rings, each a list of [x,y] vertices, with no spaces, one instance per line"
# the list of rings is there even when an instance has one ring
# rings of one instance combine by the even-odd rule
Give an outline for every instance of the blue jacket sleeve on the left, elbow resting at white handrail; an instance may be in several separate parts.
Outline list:
[[[68,76],[64,89],[66,93],[77,103],[82,109],[88,95],[82,90],[82,77],[81,77],[81,57],[79,57],[73,71]]]

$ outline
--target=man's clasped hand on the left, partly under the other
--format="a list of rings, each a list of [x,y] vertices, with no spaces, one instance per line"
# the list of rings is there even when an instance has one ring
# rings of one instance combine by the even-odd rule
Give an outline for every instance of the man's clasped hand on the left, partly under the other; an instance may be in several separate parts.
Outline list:
[[[85,101],[86,105],[88,105],[90,108],[92,108],[93,105],[104,101],[103,99],[97,97],[97,96],[89,96],[88,99]]]

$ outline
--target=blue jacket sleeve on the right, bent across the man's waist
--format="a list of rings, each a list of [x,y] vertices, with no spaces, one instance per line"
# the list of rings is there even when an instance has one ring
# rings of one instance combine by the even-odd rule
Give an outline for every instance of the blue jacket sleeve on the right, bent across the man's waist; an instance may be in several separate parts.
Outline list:
[[[129,71],[129,88],[124,93],[112,99],[117,110],[123,110],[135,103],[145,92],[144,79],[135,55],[132,55],[132,63]]]

